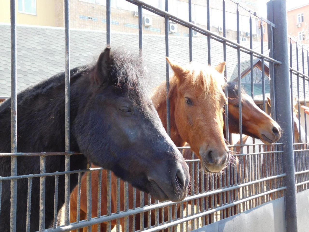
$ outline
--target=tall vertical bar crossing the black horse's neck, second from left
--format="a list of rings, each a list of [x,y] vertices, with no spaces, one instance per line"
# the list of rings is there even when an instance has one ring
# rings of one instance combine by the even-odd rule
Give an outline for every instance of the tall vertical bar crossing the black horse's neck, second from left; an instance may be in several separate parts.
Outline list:
[[[65,151],[70,151],[70,9],[69,0],[64,2],[65,33]],[[65,155],[65,171],[70,171],[70,155]],[[65,174],[64,224],[70,224],[70,174]]]

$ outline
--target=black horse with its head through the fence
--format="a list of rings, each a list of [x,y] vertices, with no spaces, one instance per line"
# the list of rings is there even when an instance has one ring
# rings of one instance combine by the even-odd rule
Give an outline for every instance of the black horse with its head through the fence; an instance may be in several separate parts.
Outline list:
[[[108,47],[95,65],[70,71],[70,170],[95,165],[158,200],[187,195],[188,166],[166,134],[144,86],[148,73],[138,55]],[[18,152],[65,150],[64,73],[17,96]],[[0,105],[0,153],[10,152],[10,99]],[[46,173],[64,171],[64,156],[47,156]],[[10,176],[10,157],[0,157],[0,176]],[[40,157],[17,158],[17,174],[40,173]],[[77,174],[70,175],[70,191]],[[45,226],[53,221],[55,177],[46,177]],[[17,231],[25,231],[28,179],[17,180]],[[10,231],[10,181],[2,181],[0,231]],[[64,204],[59,176],[58,211]],[[32,180],[30,231],[39,230],[39,178]]]

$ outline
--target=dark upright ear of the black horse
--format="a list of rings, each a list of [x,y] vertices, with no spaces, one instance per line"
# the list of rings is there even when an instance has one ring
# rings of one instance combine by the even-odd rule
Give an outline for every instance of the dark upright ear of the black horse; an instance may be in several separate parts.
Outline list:
[[[91,80],[95,85],[101,85],[111,78],[112,57],[111,47],[107,46],[100,54],[99,59],[95,65],[94,71],[91,75]]]

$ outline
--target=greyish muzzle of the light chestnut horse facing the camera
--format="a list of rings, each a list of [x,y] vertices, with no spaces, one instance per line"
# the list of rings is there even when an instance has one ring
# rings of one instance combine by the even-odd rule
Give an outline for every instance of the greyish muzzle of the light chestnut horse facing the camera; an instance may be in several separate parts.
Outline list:
[[[214,148],[208,148],[206,151],[200,149],[200,156],[205,171],[220,172],[230,159],[230,152],[228,149],[223,151],[218,151]]]

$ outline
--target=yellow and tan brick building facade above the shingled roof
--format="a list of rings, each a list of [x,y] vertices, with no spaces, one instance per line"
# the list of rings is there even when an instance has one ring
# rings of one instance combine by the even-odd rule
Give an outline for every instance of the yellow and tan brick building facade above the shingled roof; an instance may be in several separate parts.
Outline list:
[[[165,9],[164,0],[144,0],[144,2]],[[188,0],[169,0],[169,12],[188,20]],[[240,0],[241,6],[257,11],[258,0]],[[17,23],[42,26],[64,27],[64,0],[16,0]],[[2,12],[3,11],[3,14]],[[210,0],[210,31],[222,36],[222,1]],[[258,21],[252,16],[252,36],[259,41]],[[143,9],[143,33],[165,34],[164,18]],[[192,1],[192,20],[207,29],[206,0]],[[10,4],[5,1],[0,9],[0,23],[10,22]],[[76,29],[106,30],[106,0],[70,0],[70,27]],[[249,40],[249,12],[239,7],[240,40]],[[125,0],[111,0],[111,30],[115,32],[138,33],[138,7]],[[170,35],[189,36],[188,28],[170,22]],[[194,37],[203,37],[194,32]],[[236,4],[226,1],[226,37],[237,39]]]

